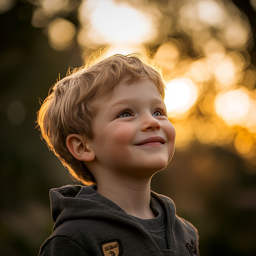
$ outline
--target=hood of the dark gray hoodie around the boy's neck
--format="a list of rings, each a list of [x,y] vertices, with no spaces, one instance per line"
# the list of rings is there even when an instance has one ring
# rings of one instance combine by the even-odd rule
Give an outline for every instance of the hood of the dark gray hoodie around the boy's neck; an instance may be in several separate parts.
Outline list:
[[[104,218],[141,225],[121,207],[96,192],[97,186],[67,185],[50,190],[53,231],[63,222],[72,219]],[[167,225],[173,227],[176,209],[172,199],[151,191],[167,214]],[[168,216],[169,215],[169,216]]]

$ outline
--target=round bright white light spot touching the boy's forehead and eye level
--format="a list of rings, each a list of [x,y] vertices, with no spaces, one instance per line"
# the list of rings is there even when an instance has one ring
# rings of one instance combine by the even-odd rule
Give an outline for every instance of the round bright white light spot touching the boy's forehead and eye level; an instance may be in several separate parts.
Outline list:
[[[166,84],[165,105],[170,117],[186,112],[197,99],[197,89],[187,78],[174,79]]]

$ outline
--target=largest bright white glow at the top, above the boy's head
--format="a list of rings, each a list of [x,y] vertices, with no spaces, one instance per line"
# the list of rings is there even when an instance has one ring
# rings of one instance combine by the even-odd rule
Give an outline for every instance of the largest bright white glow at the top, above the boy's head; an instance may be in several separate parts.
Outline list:
[[[112,0],[83,1],[79,17],[81,29],[79,43],[138,45],[155,35],[150,14],[132,8],[128,3]]]

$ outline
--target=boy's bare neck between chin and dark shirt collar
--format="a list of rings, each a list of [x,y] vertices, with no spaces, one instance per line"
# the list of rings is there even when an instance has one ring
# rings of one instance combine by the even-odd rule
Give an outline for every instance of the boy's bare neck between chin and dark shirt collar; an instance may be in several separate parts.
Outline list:
[[[127,214],[141,218],[152,219],[155,215],[150,208],[150,178],[133,179],[119,177],[97,179],[97,192],[120,206]]]

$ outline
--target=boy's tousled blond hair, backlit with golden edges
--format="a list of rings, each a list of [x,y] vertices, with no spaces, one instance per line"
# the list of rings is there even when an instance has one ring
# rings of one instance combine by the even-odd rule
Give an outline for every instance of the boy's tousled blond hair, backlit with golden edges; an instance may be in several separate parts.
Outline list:
[[[82,67],[69,71],[51,88],[51,93],[50,89],[37,112],[41,138],[68,168],[71,178],[85,185],[96,184],[96,180],[86,165],[69,152],[66,138],[74,133],[93,139],[92,121],[97,114],[93,102],[111,95],[124,76],[128,76],[127,84],[151,79],[163,99],[165,93],[161,70],[152,59],[140,53],[117,54],[103,60],[101,55],[93,54]]]

